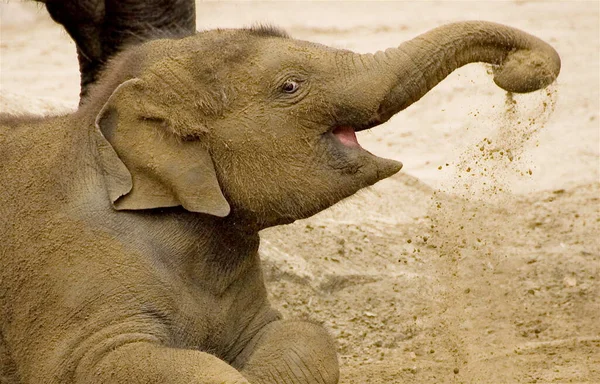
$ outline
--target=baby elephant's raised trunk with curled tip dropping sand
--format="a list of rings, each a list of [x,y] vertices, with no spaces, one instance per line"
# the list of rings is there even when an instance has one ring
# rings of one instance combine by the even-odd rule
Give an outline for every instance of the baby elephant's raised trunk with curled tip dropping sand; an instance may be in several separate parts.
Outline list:
[[[361,59],[373,63],[371,68],[388,79],[386,94],[370,126],[387,121],[468,63],[494,64],[494,82],[517,93],[544,88],[560,72],[558,54],[544,41],[515,28],[481,21],[448,24],[397,48],[361,55]],[[371,84],[383,83],[372,80]]]

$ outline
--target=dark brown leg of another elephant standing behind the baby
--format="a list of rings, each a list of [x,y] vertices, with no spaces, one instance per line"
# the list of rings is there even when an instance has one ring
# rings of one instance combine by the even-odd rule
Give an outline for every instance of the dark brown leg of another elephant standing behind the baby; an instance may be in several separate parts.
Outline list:
[[[36,0],[73,38],[81,73],[81,97],[124,47],[157,37],[196,32],[194,0]]]

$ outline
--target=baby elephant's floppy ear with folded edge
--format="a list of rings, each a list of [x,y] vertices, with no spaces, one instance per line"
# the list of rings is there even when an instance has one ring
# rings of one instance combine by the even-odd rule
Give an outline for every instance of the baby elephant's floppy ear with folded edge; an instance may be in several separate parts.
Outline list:
[[[225,217],[230,207],[200,140],[184,140],[168,107],[141,79],[119,85],[96,117],[108,195],[117,210],[183,206]],[[171,105],[171,108],[176,106]]]

